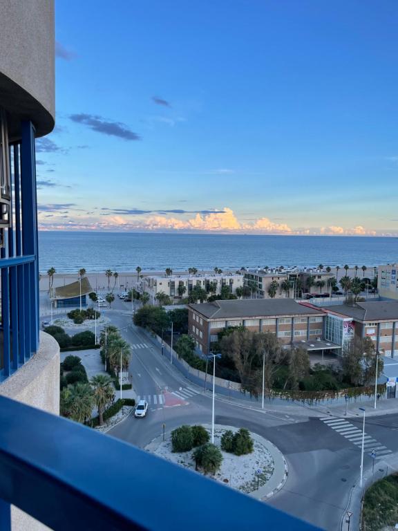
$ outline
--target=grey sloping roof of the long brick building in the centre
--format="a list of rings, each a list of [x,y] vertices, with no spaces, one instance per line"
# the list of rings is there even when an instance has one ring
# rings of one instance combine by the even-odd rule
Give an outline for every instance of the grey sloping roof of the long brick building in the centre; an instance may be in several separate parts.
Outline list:
[[[319,308],[309,308],[294,299],[242,299],[189,304],[207,319],[231,319],[245,317],[278,317],[279,315],[325,315]]]

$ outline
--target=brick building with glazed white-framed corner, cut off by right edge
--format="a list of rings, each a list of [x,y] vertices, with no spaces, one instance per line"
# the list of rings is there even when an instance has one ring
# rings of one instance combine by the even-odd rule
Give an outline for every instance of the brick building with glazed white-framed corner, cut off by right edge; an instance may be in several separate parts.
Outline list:
[[[358,302],[323,308],[325,339],[343,345],[353,337],[370,337],[376,351],[398,356],[398,301]]]

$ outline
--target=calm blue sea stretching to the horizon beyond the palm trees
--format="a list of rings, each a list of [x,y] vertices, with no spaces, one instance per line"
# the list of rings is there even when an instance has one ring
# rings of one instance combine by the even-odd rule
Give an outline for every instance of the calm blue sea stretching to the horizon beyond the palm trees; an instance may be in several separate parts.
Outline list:
[[[39,270],[58,273],[111,269],[143,271],[237,269],[398,262],[398,239],[373,236],[263,236],[245,234],[158,234],[39,232]]]

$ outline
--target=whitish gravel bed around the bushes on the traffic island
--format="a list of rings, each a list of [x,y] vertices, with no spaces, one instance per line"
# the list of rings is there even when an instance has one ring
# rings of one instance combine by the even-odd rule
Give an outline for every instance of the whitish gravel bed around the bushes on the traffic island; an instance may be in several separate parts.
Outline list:
[[[227,430],[220,428],[214,430],[214,444],[216,446],[220,447],[220,439],[225,431]],[[154,454],[182,467],[195,470],[195,461],[192,458],[194,450],[173,454],[171,451],[171,438],[169,438],[164,443],[160,443]],[[227,451],[222,451],[221,448],[220,451],[223,457],[222,465],[214,476],[209,475],[208,477],[223,485],[229,485],[229,487],[236,490],[249,493],[257,489],[256,471],[258,469],[261,469],[259,476],[260,487],[267,483],[274,472],[274,460],[271,454],[263,444],[255,439],[252,454],[236,456],[229,454]]]

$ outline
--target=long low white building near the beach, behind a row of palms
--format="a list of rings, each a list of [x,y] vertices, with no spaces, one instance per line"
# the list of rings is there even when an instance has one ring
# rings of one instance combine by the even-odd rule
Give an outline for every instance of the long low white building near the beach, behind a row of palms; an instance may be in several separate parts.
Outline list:
[[[232,294],[236,288],[242,288],[243,275],[238,273],[197,273],[197,274],[166,274],[149,275],[141,281],[141,289],[149,293],[155,300],[158,293],[169,297],[188,297],[194,286],[207,291],[209,295],[220,295],[227,286]]]

